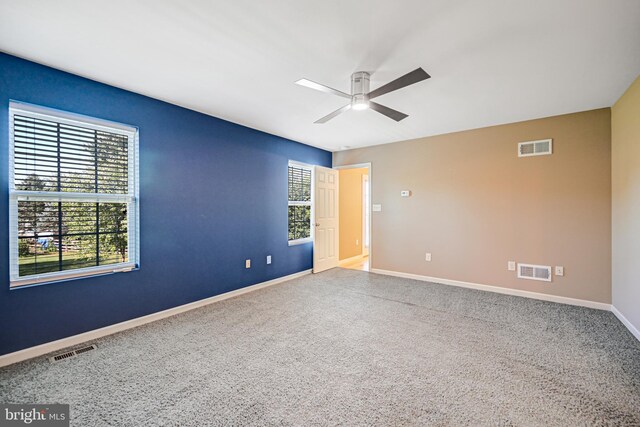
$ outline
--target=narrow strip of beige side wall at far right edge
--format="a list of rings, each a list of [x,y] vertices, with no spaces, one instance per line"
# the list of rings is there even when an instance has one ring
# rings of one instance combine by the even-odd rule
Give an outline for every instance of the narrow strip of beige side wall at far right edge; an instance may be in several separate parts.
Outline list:
[[[611,113],[613,305],[640,330],[640,77]]]

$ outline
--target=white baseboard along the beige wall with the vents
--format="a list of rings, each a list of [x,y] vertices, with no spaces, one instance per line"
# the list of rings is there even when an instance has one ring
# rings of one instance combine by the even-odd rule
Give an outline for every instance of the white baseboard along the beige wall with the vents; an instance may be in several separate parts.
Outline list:
[[[390,270],[380,270],[377,268],[372,269],[371,272],[377,273],[377,274],[384,274],[387,276],[396,276],[396,277],[404,277],[406,279],[421,280],[423,282],[433,282],[433,283],[439,283],[442,285],[458,286],[461,288],[478,289],[481,291],[496,292],[496,293],[505,294],[505,295],[514,295],[518,297],[533,298],[533,299],[539,299],[543,301],[558,302],[561,304],[596,308],[598,310],[607,310],[607,311],[611,310],[611,304],[606,304],[603,302],[560,297],[556,295],[541,294],[538,292],[521,291],[518,289],[503,288],[500,286],[481,285],[479,283],[461,282],[459,280],[441,279],[439,277],[421,276],[419,274],[401,273],[398,271],[390,271]]]

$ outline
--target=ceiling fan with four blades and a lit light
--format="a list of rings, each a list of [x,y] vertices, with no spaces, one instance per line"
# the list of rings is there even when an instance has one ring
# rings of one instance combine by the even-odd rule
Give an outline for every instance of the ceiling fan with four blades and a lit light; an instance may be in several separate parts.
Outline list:
[[[393,110],[389,107],[385,107],[384,105],[380,105],[376,102],[371,101],[373,98],[376,98],[380,95],[384,95],[385,93],[393,92],[394,90],[402,89],[403,87],[412,85],[414,83],[421,82],[422,80],[426,80],[431,76],[427,74],[422,68],[417,68],[410,73],[405,74],[402,77],[398,77],[392,82],[387,83],[384,86],[380,86],[378,89],[369,91],[369,80],[371,74],[366,71],[358,71],[351,75],[351,95],[348,93],[344,93],[337,89],[331,88],[329,86],[322,85],[320,83],[312,82],[311,80],[301,79],[296,82],[300,86],[305,86],[311,89],[319,90],[320,92],[332,93],[334,95],[341,96],[343,98],[348,98],[351,102],[345,105],[342,108],[338,108],[331,114],[327,114],[321,119],[316,120],[314,123],[326,123],[329,120],[333,119],[335,116],[344,113],[347,110],[366,110],[367,108],[371,108],[374,111],[377,111],[380,114],[384,114],[390,119],[399,122],[402,119],[406,119],[409,117],[408,115],[401,113],[400,111]]]

